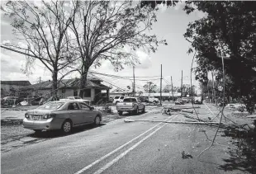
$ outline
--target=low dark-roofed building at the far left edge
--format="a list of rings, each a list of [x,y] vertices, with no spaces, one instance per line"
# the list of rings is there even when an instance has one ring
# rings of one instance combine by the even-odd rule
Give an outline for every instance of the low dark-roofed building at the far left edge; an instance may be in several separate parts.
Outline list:
[[[19,96],[21,87],[30,86],[29,81],[1,81],[1,97]]]

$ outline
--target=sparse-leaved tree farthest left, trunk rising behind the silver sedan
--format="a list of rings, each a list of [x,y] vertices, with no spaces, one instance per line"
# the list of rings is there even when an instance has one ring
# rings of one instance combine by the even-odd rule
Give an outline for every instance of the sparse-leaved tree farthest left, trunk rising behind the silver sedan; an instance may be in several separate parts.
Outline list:
[[[58,73],[77,59],[75,52],[69,49],[70,40],[67,30],[71,24],[70,17],[77,12],[78,2],[74,3],[73,8],[67,8],[64,5],[64,1],[42,1],[38,4],[8,1],[1,6],[5,16],[11,20],[16,39],[26,45],[8,46],[23,49],[33,56],[26,57],[25,73],[31,73],[36,59],[50,70],[53,79],[53,96],[57,93]]]

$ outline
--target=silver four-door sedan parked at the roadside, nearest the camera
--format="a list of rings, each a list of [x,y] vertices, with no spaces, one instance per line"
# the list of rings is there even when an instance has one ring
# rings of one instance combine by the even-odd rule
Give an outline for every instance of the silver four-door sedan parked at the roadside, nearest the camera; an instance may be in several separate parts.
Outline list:
[[[36,133],[41,130],[61,129],[69,133],[73,127],[94,123],[100,125],[102,113],[94,111],[81,101],[50,101],[35,110],[26,111],[23,126],[33,129]]]

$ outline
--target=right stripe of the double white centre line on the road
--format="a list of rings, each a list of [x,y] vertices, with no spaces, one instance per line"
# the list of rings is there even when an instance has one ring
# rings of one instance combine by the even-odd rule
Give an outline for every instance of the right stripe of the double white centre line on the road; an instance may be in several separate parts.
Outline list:
[[[175,116],[175,118],[178,115]],[[173,118],[174,119],[174,118]],[[140,143],[143,143],[146,139],[149,139],[149,137],[151,137],[153,134],[155,134],[157,131],[159,131],[159,129],[162,129],[165,125],[167,125],[167,123],[165,123],[164,125],[162,125],[161,127],[159,127],[158,129],[155,129],[151,134],[147,135],[144,139],[141,139],[138,143],[135,143],[135,145],[133,145],[131,148],[127,149],[124,153],[121,153],[118,157],[114,158],[111,162],[108,162],[106,164],[106,166],[100,168],[99,170],[97,170],[97,172],[94,172],[93,174],[101,174],[102,172],[104,172],[107,168],[111,167],[114,163],[118,162],[121,158],[123,158],[127,153],[130,153],[131,150],[133,150],[134,148],[136,148],[137,146],[140,145]]]

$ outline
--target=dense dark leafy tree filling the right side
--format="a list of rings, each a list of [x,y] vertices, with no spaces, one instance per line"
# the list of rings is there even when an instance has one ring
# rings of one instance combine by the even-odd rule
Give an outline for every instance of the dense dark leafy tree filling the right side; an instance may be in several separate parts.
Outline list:
[[[197,79],[207,82],[216,70],[222,77],[221,54],[225,57],[226,96],[243,98],[249,112],[256,103],[256,2],[193,2],[207,16],[188,25],[185,38],[197,50]],[[190,6],[187,13],[195,10]],[[192,52],[192,49],[189,52]],[[222,52],[222,53],[221,53]],[[226,86],[225,86],[226,87]]]

